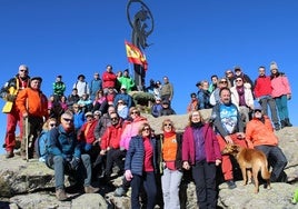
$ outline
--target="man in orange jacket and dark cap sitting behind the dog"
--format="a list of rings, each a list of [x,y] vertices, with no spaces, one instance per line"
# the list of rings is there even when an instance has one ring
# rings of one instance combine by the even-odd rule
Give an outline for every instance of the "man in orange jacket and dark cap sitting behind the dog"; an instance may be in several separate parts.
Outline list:
[[[271,182],[286,182],[287,175],[284,168],[288,161],[278,147],[278,138],[274,132],[272,123],[269,117],[262,115],[259,103],[255,103],[254,118],[246,126],[246,140],[249,148],[261,150],[272,167],[270,177]]]

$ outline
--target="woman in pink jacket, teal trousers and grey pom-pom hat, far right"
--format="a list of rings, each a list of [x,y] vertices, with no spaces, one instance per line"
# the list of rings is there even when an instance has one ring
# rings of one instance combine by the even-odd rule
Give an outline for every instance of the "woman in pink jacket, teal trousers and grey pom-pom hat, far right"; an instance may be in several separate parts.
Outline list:
[[[291,90],[288,78],[285,73],[279,72],[277,63],[270,63],[272,98],[276,101],[281,128],[291,127],[288,111],[288,100],[291,99]]]

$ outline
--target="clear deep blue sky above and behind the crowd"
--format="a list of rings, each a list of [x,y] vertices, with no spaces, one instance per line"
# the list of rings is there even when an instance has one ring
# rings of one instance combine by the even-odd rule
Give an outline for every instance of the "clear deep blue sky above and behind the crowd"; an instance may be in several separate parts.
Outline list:
[[[143,0],[149,7],[155,30],[148,37],[146,77],[162,80],[168,76],[175,87],[172,107],[185,113],[196,82],[240,66],[257,78],[258,67],[275,60],[289,78],[295,111],[298,69],[298,2],[295,0]],[[30,76],[43,78],[49,96],[56,76],[62,74],[71,91],[78,74],[90,81],[93,72],[107,64],[115,71],[131,66],[125,40],[131,40],[125,0],[1,0],[0,1],[0,84],[26,63]],[[131,70],[132,71],[132,70]],[[0,101],[1,107],[3,101]],[[0,113],[0,136],[4,137],[6,115]],[[2,139],[3,139],[2,137]],[[2,143],[2,140],[1,142]]]

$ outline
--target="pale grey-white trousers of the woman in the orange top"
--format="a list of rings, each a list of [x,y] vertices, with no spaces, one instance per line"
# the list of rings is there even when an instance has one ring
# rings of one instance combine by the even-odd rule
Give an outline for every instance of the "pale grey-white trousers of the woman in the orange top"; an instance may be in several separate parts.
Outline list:
[[[161,187],[163,195],[165,209],[179,209],[179,186],[182,179],[182,172],[166,168],[161,176]]]

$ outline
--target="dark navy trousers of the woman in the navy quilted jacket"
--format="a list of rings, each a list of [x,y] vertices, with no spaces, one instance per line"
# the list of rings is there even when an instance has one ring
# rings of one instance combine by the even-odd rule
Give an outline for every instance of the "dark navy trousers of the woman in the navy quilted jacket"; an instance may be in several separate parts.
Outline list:
[[[131,209],[140,209],[139,195],[141,187],[147,195],[147,209],[153,209],[156,206],[157,183],[155,172],[145,172],[142,176],[132,173],[131,180]]]

